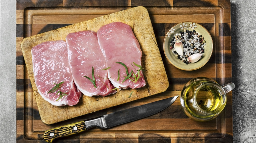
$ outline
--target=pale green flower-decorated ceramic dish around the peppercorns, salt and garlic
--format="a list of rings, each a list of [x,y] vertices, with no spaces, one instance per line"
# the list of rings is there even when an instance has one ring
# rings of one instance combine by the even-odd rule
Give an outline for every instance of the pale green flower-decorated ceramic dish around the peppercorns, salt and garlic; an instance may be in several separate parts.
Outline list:
[[[204,45],[203,56],[200,60],[198,60],[195,63],[189,63],[189,64],[183,63],[180,59],[178,59],[172,53],[172,50],[170,49],[171,47],[170,41],[172,40],[172,37],[176,33],[180,33],[180,31],[183,32],[184,29],[190,30],[190,31],[196,30],[196,32],[202,35],[204,37],[204,40],[206,41]],[[182,23],[176,24],[167,32],[163,41],[163,50],[166,58],[173,66],[181,70],[192,71],[192,70],[197,70],[203,67],[209,61],[213,51],[213,41],[210,33],[202,25],[194,22],[182,22]]]

